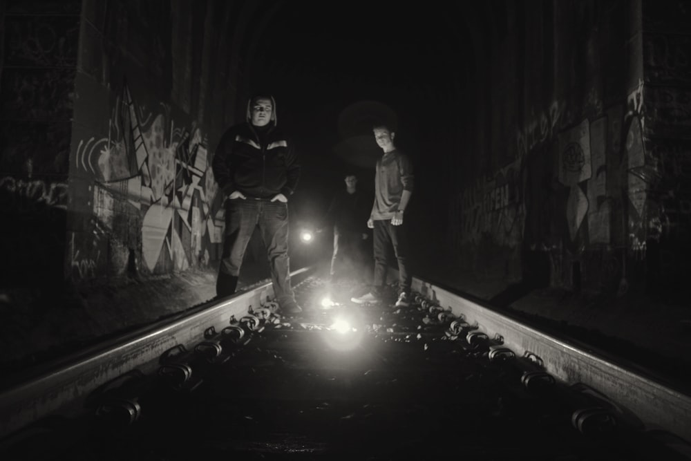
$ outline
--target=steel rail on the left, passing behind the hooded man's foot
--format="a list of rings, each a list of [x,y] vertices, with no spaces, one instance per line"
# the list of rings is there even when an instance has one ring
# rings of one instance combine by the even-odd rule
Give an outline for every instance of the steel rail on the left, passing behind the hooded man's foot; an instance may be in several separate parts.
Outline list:
[[[301,279],[311,270],[296,270],[291,276]],[[224,301],[210,301],[207,308],[182,318],[158,322],[41,367],[41,373],[0,392],[0,440],[51,413],[74,408],[98,386],[135,368],[148,373],[165,351],[180,344],[191,347],[204,339],[208,328],[223,330],[231,317],[240,319],[250,305],[263,305],[273,297],[272,284],[266,282]]]

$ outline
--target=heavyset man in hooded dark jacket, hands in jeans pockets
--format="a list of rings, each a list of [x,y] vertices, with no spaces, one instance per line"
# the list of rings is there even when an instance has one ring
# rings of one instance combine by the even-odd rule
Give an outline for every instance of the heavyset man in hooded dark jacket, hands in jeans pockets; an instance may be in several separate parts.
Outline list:
[[[247,104],[247,121],[221,138],[211,167],[225,200],[225,238],[216,295],[233,294],[254,229],[259,228],[269,260],[274,295],[285,314],[301,312],[290,286],[288,197],[300,167],[291,140],[276,126],[276,102],[256,95]]]

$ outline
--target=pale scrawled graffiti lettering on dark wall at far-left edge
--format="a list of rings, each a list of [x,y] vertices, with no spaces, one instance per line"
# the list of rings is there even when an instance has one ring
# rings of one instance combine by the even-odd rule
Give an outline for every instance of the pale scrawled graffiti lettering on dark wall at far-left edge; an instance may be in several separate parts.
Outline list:
[[[67,209],[67,185],[42,180],[24,181],[5,176],[0,178],[3,208],[30,211],[44,207]]]

